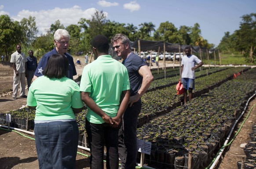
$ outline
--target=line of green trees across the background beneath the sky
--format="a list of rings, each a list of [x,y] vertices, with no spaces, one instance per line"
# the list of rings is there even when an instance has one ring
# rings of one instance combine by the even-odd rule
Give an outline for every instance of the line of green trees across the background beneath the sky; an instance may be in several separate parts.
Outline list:
[[[234,34],[225,32],[218,48],[223,53],[248,54],[250,61],[255,58],[256,46],[256,14],[247,14],[241,17],[240,29]],[[6,61],[15,51],[16,44],[22,44],[23,49],[33,49],[35,56],[42,57],[54,47],[53,34],[57,29],[66,29],[70,36],[69,53],[80,55],[91,50],[91,39],[98,35],[105,35],[109,40],[116,33],[123,33],[131,41],[140,38],[143,40],[166,41],[214,48],[214,44],[208,43],[201,36],[198,23],[193,27],[182,25],[178,28],[171,22],[162,22],[158,29],[152,22],[144,22],[139,28],[133,24],[112,22],[106,19],[103,11],[96,11],[91,20],[80,18],[77,25],[71,24],[64,27],[59,20],[51,24],[45,34],[38,34],[35,17],[23,18],[20,22],[13,21],[8,15],[0,15],[0,54],[4,54]],[[26,53],[24,50],[22,50]]]

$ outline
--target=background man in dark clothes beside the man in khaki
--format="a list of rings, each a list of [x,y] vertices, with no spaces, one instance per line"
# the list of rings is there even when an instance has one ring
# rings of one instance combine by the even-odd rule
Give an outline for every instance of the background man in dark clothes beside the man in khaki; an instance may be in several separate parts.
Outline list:
[[[34,57],[33,50],[29,50],[29,56],[27,57],[27,83],[28,83],[28,90],[29,86],[31,85],[31,81],[33,79],[34,73],[37,69],[37,58]]]

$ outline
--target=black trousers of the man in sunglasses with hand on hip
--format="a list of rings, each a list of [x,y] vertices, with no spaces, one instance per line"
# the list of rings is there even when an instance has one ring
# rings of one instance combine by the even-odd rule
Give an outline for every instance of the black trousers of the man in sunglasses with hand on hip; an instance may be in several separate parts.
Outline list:
[[[141,110],[141,101],[128,105],[123,117],[123,126],[119,129],[118,151],[121,164],[125,169],[135,169],[137,158],[137,119]]]

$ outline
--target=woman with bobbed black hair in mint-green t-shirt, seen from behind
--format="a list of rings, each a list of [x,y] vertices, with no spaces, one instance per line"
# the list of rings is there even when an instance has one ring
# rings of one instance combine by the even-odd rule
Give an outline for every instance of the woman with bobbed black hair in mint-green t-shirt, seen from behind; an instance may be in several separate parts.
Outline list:
[[[74,113],[82,111],[79,86],[67,78],[68,59],[53,54],[43,75],[29,88],[27,104],[36,109],[35,140],[40,169],[75,169],[78,126]]]

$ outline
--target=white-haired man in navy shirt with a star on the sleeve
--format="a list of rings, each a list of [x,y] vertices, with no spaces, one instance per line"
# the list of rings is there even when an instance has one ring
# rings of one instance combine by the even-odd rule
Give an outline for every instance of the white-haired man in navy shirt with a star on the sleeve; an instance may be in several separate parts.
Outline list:
[[[65,29],[56,30],[56,32],[54,34],[54,44],[56,47],[41,58],[38,66],[37,66],[37,70],[34,74],[33,80],[35,80],[35,79],[37,79],[37,77],[43,75],[43,71],[47,64],[47,61],[53,54],[62,54],[63,56],[68,58],[69,69],[68,69],[67,77],[69,79],[73,79],[73,76],[77,75],[73,57],[67,53],[67,50],[69,47],[69,40],[70,40],[69,32],[67,32]]]

